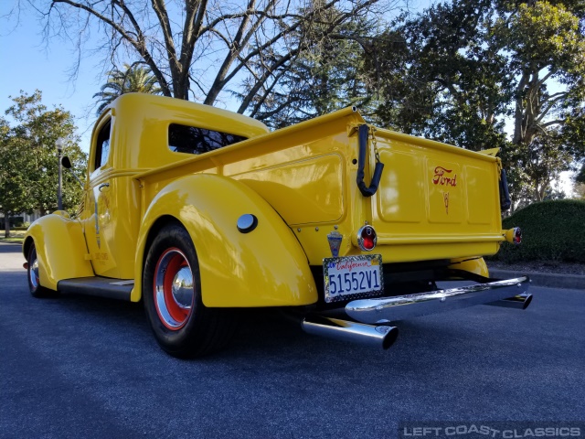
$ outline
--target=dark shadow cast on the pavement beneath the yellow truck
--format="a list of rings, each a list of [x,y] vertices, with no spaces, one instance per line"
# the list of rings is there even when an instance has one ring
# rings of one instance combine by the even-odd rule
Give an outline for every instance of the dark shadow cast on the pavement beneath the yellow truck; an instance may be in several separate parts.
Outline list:
[[[49,315],[57,312],[67,320],[83,321],[84,337],[88,337],[88,341],[93,333],[111,331],[124,333],[124,337],[132,340],[134,348],[158,349],[142,303],[82,294],[59,294],[41,300],[31,297],[30,300],[41,303],[41,309],[52,308],[47,309]],[[372,360],[387,363],[414,356],[424,358],[429,352],[436,354],[437,350],[450,352],[461,348],[462,342],[473,345],[473,338],[482,337],[482,334],[470,334],[467,325],[452,327],[441,322],[440,318],[432,316],[399,322],[398,340],[388,350],[383,350],[306,334],[299,324],[271,309],[239,310],[239,327],[229,345],[196,361],[241,361],[263,357],[267,361],[294,360],[298,366],[299,358],[306,358],[307,367],[314,367],[315,361],[334,359],[337,363],[346,359],[352,359],[353,363]]]

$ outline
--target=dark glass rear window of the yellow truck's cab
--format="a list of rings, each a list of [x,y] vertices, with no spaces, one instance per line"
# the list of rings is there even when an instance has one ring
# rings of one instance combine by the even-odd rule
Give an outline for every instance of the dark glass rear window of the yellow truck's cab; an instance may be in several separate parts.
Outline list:
[[[203,154],[242,140],[246,137],[178,123],[168,127],[168,147],[175,153]]]

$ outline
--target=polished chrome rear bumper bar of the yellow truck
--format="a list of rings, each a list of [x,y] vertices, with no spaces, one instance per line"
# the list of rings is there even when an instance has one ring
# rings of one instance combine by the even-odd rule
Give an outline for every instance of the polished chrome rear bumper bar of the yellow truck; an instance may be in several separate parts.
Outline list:
[[[362,323],[388,324],[473,305],[525,309],[532,300],[532,294],[527,294],[529,282],[528,277],[523,276],[428,293],[359,299],[346,305],[346,314]]]

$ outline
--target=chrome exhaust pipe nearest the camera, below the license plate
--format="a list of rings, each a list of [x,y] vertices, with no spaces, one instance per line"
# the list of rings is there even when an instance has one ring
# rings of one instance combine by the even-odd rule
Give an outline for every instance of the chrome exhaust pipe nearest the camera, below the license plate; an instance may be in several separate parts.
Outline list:
[[[365,325],[338,318],[307,316],[301,322],[303,331],[314,336],[354,341],[376,348],[388,349],[399,336],[398,327]]]

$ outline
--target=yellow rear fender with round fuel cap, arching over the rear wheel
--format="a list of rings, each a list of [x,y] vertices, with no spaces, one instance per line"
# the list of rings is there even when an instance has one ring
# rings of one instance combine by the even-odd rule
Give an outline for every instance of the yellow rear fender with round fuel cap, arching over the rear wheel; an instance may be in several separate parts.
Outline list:
[[[258,227],[241,233],[237,221],[253,214]],[[138,239],[132,300],[142,294],[146,243],[157,219],[186,228],[197,251],[203,303],[210,307],[309,305],[314,277],[301,244],[283,219],[250,187],[227,177],[198,174],[163,188],[144,215]]]

